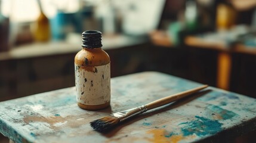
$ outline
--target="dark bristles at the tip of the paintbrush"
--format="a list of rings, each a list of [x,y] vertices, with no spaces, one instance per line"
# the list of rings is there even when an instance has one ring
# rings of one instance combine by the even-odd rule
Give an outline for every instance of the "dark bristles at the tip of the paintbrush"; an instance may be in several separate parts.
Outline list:
[[[119,121],[116,117],[107,116],[90,122],[90,125],[97,132],[106,133],[106,131],[112,129]]]

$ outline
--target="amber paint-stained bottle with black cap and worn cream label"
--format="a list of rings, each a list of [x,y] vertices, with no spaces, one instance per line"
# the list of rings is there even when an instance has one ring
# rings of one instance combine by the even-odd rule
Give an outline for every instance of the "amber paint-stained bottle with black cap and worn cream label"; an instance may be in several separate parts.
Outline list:
[[[101,48],[101,32],[82,33],[82,50],[75,57],[76,101],[86,110],[110,104],[110,58]]]

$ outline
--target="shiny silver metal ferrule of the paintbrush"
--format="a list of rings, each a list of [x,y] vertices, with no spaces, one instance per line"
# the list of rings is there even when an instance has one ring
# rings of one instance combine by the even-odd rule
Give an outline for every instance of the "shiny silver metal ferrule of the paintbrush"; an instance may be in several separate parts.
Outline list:
[[[125,120],[125,119],[128,119],[130,117],[133,117],[137,114],[141,114],[141,113],[144,113],[147,111],[147,107],[146,105],[142,105],[140,107],[136,107],[136,108],[131,108],[129,110],[125,110],[125,111],[120,111],[118,113],[113,113],[113,114],[110,114],[110,116],[114,116],[114,117],[117,117],[120,122]]]

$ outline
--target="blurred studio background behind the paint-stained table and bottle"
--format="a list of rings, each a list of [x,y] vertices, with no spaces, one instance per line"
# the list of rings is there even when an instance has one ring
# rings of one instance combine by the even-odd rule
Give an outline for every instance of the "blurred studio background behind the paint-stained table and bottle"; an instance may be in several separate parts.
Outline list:
[[[0,101],[75,86],[85,30],[103,32],[112,77],[161,71],[256,98],[255,0],[0,0]]]

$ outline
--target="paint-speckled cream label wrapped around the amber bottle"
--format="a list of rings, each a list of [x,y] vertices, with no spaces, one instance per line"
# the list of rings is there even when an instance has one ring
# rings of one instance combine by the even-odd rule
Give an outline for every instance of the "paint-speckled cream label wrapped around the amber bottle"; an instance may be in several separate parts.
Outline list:
[[[103,66],[75,64],[76,101],[84,105],[110,102],[110,63]]]

